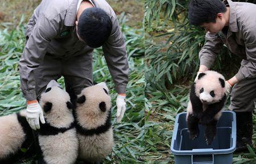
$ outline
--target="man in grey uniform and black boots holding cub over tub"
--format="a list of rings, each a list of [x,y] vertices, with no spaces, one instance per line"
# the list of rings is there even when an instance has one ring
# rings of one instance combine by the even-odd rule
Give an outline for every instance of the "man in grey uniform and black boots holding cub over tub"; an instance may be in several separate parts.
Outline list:
[[[207,31],[205,45],[200,50],[199,72],[207,71],[213,64],[221,46],[243,60],[240,70],[226,81],[231,93],[229,109],[237,116],[237,152],[252,145],[252,111],[256,98],[256,5],[230,0],[192,0],[189,4],[189,21]]]

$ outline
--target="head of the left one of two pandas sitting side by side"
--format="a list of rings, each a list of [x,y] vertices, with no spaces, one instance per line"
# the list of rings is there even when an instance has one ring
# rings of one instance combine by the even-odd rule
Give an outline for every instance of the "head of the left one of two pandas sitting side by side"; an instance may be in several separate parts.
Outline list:
[[[44,119],[54,127],[66,127],[73,122],[70,97],[60,85],[51,80],[40,97],[40,106],[42,107]]]

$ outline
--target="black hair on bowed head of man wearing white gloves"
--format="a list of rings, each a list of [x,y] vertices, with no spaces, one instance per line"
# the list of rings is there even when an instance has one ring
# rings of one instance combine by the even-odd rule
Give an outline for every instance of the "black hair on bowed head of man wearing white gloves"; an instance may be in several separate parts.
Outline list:
[[[77,25],[80,38],[91,48],[98,48],[108,40],[112,31],[109,15],[98,7],[86,8]]]

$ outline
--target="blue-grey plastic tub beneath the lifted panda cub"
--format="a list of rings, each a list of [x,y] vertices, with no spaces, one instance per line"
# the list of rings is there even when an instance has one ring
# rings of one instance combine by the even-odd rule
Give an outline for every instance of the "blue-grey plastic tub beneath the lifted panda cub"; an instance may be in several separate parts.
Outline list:
[[[171,153],[176,164],[229,164],[236,150],[236,113],[223,111],[217,124],[216,137],[212,145],[204,140],[205,127],[199,125],[200,135],[189,139],[186,114],[177,114],[172,133]]]

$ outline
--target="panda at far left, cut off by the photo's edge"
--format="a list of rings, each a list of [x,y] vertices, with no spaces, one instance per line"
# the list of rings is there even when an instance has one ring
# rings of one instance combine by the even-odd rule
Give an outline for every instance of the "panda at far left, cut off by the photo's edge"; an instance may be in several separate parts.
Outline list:
[[[31,157],[36,142],[26,120],[26,110],[0,117],[0,163]]]

